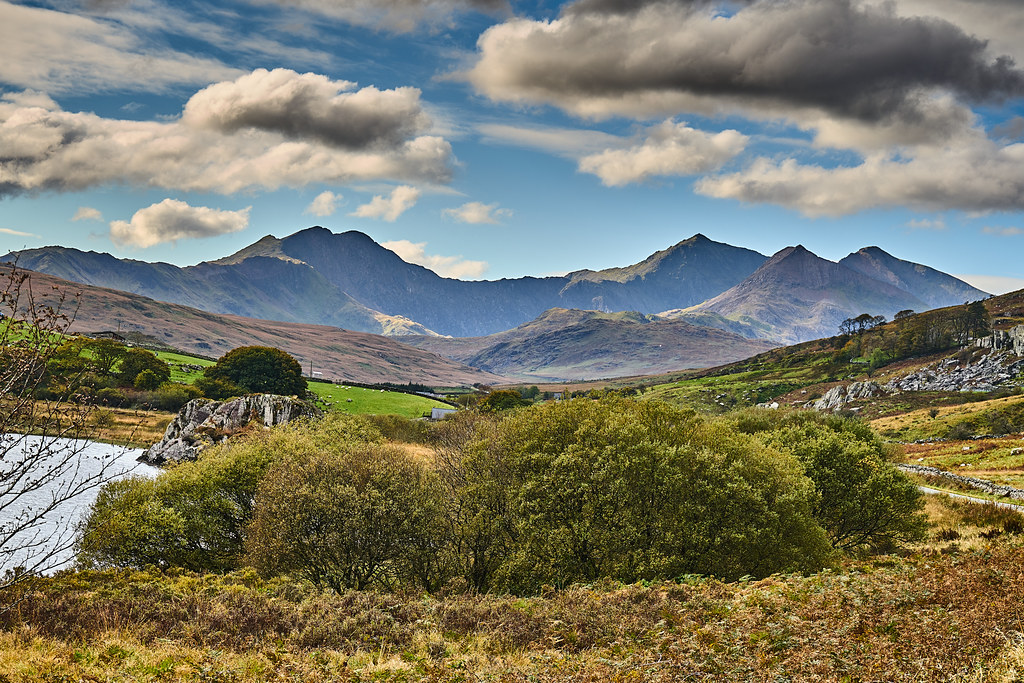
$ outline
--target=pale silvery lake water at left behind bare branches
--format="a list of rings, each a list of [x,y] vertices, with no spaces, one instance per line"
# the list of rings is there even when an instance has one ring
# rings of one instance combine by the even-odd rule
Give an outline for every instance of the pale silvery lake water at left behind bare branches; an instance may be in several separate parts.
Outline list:
[[[92,484],[160,472],[135,462],[141,453],[85,440],[0,435],[0,575],[16,566],[47,573],[69,566],[74,529],[99,494]],[[40,563],[42,557],[49,559]]]

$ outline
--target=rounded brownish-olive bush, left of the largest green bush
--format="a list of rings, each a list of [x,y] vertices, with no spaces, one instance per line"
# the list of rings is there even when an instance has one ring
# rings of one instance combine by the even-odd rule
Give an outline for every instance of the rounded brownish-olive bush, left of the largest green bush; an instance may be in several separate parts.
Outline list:
[[[400,449],[289,455],[263,478],[255,509],[247,557],[264,574],[338,592],[443,581],[436,478]]]

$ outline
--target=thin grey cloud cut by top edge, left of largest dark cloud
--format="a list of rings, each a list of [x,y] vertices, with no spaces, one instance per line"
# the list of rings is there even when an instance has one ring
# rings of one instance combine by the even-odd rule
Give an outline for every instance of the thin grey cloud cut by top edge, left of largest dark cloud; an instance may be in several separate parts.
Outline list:
[[[424,23],[446,22],[457,12],[474,9],[485,12],[507,10],[507,0],[250,0],[274,4],[338,18],[357,26],[370,26],[407,33]]]

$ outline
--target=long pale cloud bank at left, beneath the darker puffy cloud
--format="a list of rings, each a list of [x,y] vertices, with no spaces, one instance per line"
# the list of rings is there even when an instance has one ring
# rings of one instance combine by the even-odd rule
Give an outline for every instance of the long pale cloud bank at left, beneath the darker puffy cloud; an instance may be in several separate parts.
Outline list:
[[[285,76],[300,84],[308,82],[306,75],[288,72]],[[233,92],[229,86],[228,94]],[[288,87],[283,90],[294,93]],[[105,119],[65,112],[52,102],[0,101],[0,197],[109,183],[232,194],[359,180],[444,182],[451,176],[451,145],[443,138],[414,132],[423,125],[422,114],[409,106],[409,93],[394,100],[376,99],[382,109],[366,117],[377,116],[382,123],[360,120],[346,133],[344,124],[318,128],[322,122],[315,116],[292,128],[275,126],[293,98],[274,99],[273,92],[265,93],[267,103],[249,102],[243,108],[262,112],[263,119],[237,127],[240,118],[223,114],[230,108],[216,106],[219,100],[209,88],[203,92],[202,106],[194,106],[193,115],[169,122]],[[329,91],[318,92],[324,101],[307,98],[307,111],[332,106]],[[375,98],[379,94],[373,90]],[[396,103],[412,121],[396,126],[388,103]],[[223,116],[204,118],[199,112]],[[358,141],[356,130],[368,138]],[[410,132],[400,137],[397,130]],[[338,144],[326,144],[326,137]]]

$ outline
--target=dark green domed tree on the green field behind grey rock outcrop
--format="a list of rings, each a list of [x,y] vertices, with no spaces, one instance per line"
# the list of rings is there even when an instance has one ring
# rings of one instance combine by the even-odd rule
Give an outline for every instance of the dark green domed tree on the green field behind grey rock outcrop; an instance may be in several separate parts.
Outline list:
[[[270,346],[240,346],[206,369],[211,380],[225,380],[250,393],[303,395],[306,381],[299,361]]]

